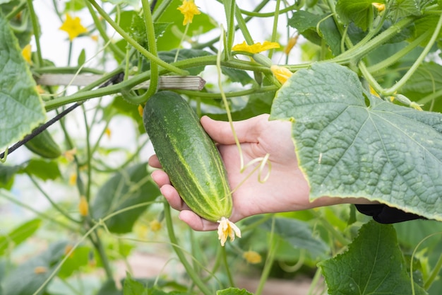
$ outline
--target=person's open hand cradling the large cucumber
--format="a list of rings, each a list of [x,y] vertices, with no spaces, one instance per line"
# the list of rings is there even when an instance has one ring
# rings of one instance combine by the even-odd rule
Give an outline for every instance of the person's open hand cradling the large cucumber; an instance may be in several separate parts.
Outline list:
[[[236,188],[232,195],[233,211],[229,220],[236,222],[255,214],[297,211],[342,202],[342,199],[329,197],[310,202],[309,185],[299,169],[294,153],[291,123],[269,121],[268,117],[268,115],[259,115],[248,120],[234,122],[245,164],[254,158],[270,154],[270,177],[265,183],[258,181],[257,171],[241,183],[254,166],[247,168],[243,173],[240,172],[239,151],[229,122],[215,121],[209,117],[201,118],[201,125],[217,142],[227,169],[230,187]],[[161,168],[157,156],[152,156],[149,164],[155,168]],[[267,169],[263,171],[262,177],[266,173]],[[196,231],[217,229],[217,224],[201,219],[186,206],[163,170],[155,170],[152,177],[172,208],[181,211],[179,218],[189,224],[192,229]],[[237,187],[239,183],[241,185]]]

